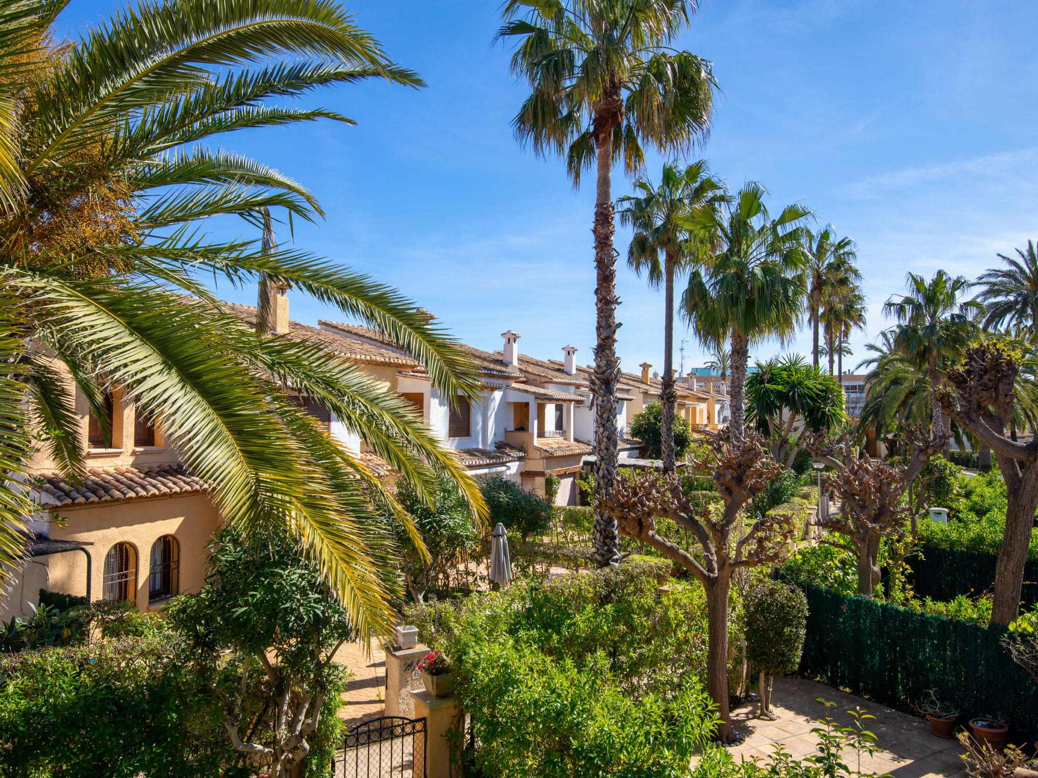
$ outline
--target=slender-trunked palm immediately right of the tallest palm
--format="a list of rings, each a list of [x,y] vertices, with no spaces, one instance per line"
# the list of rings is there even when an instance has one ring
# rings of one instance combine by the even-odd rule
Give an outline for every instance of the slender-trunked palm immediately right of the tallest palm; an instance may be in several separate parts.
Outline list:
[[[660,449],[663,472],[676,468],[674,451],[674,415],[678,391],[674,380],[674,279],[691,262],[698,261],[704,247],[689,234],[692,219],[701,209],[713,209],[725,198],[725,186],[710,175],[703,160],[688,167],[668,163],[658,187],[648,178],[634,182],[640,196],[621,197],[618,204],[621,222],[634,227],[627,263],[637,275],[645,273],[649,285],[663,285],[663,380],[659,393],[661,415]],[[660,257],[662,255],[662,261]]]

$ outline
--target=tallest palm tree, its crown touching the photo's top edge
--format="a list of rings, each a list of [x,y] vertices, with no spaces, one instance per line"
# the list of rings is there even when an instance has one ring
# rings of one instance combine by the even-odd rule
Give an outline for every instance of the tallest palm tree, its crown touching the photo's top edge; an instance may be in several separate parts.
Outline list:
[[[507,0],[499,40],[516,39],[513,72],[530,94],[514,120],[517,138],[542,156],[565,158],[574,185],[597,171],[595,219],[595,494],[611,492],[617,470],[617,261],[612,166],[645,163],[643,143],[683,152],[710,127],[711,65],[668,45],[688,25],[694,0]],[[595,558],[620,560],[613,519],[595,516]]]

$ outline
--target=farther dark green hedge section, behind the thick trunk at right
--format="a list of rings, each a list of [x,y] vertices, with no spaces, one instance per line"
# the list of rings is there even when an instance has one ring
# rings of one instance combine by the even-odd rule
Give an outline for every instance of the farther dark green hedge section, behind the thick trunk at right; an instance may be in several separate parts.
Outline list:
[[[921,598],[954,600],[959,594],[977,596],[994,585],[994,554],[982,554],[957,549],[943,549],[924,544],[920,554],[908,558],[911,568],[909,582]],[[1031,560],[1023,568],[1023,609],[1038,603],[1038,561]]]

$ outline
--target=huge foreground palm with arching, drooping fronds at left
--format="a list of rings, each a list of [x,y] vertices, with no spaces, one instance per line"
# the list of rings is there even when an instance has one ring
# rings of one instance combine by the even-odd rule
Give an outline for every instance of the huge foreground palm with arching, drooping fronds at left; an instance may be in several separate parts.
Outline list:
[[[268,209],[322,215],[288,176],[203,142],[243,128],[351,122],[270,98],[371,78],[418,87],[420,79],[323,0],[148,3],[61,44],[51,27],[62,3],[0,5],[0,457],[8,472],[0,559],[22,552],[18,530],[31,512],[18,488],[30,477],[29,430],[71,482],[80,480],[74,391],[104,423],[103,389],[117,385],[212,484],[225,521],[288,527],[357,629],[384,632],[392,560],[377,508],[407,517],[285,387],[327,405],[419,494],[434,471],[446,472],[482,510],[476,488],[400,397],[319,344],[254,332],[199,278],[293,284],[384,332],[452,395],[472,394],[474,373],[459,344],[394,290],[300,251],[200,231],[220,214],[256,226]]]

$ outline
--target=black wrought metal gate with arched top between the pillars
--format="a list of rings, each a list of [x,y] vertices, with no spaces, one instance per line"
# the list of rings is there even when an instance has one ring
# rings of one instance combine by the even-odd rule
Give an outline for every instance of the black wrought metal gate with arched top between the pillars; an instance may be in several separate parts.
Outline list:
[[[350,729],[334,778],[426,778],[426,720],[383,716]]]

